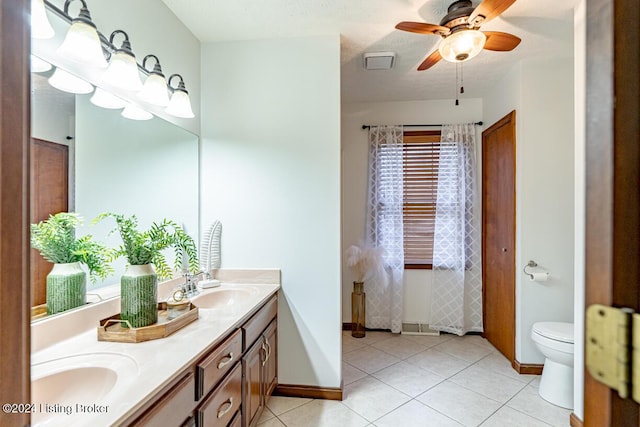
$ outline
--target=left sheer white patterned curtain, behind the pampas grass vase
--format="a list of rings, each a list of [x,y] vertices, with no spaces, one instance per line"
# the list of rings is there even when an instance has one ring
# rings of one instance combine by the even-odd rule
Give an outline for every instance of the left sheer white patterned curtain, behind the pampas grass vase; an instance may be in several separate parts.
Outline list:
[[[367,244],[384,250],[387,283],[368,282],[367,327],[402,327],[404,251],[402,237],[402,126],[369,128]]]

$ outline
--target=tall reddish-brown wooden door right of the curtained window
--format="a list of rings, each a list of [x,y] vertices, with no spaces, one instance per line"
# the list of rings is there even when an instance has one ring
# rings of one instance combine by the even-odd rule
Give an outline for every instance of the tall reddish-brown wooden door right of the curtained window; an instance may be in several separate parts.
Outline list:
[[[515,360],[515,111],[482,133],[484,336]]]

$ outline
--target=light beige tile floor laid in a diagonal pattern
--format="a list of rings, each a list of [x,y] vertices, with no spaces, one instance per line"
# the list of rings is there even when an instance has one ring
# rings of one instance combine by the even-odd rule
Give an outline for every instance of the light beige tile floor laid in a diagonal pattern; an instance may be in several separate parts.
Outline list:
[[[538,396],[540,378],[519,375],[480,336],[368,331],[342,336],[342,402],[273,396],[261,427],[542,427],[571,411]]]

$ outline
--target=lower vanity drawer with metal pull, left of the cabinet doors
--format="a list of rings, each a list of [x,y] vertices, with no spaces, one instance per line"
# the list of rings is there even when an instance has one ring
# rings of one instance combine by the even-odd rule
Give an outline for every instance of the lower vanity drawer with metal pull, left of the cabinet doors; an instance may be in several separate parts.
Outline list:
[[[199,427],[227,426],[240,409],[242,399],[242,369],[238,363],[231,373],[198,408]]]

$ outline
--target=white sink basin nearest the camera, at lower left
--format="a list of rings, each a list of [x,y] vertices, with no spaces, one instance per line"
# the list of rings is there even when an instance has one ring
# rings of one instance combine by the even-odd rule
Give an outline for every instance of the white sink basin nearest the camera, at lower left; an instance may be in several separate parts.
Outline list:
[[[31,366],[34,426],[69,425],[75,417],[99,413],[128,387],[138,372],[132,358],[116,353],[79,354]]]

